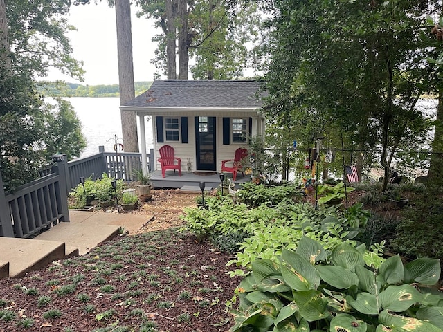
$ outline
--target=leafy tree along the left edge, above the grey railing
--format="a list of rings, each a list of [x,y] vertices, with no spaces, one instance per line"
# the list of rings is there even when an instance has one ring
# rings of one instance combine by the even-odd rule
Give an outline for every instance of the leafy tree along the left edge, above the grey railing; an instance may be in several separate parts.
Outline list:
[[[12,61],[10,66],[8,61],[0,62],[0,168],[6,189],[12,190],[37,176],[48,161],[41,147],[53,144],[44,141],[39,125],[45,108],[34,77],[44,77],[51,67],[80,77],[82,68],[71,57],[64,35],[71,28],[64,17],[69,3],[10,0],[6,8],[3,5],[2,1],[1,56]]]

